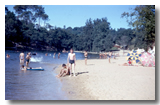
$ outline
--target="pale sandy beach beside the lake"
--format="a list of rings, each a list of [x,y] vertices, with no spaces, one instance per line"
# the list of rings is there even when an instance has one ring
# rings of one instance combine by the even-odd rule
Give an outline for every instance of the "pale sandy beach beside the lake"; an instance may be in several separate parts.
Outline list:
[[[76,61],[76,77],[61,77],[70,100],[155,100],[155,67],[119,66],[125,56]],[[59,66],[55,72],[58,74]]]

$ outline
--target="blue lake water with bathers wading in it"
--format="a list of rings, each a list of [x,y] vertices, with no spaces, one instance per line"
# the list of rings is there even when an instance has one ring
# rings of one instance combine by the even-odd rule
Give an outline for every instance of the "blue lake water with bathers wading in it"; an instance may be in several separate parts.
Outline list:
[[[24,52],[25,57],[27,51]],[[45,56],[48,53],[48,56]],[[29,67],[42,67],[44,71],[22,71],[19,63],[20,52],[6,50],[5,55],[5,99],[6,100],[67,100],[62,84],[54,72],[55,68],[67,63],[68,53],[61,53],[58,59],[53,58],[54,52],[37,51],[32,55]],[[99,58],[99,55],[89,54],[88,59]],[[76,53],[76,59],[84,59],[83,53]],[[25,65],[25,64],[24,64]]]

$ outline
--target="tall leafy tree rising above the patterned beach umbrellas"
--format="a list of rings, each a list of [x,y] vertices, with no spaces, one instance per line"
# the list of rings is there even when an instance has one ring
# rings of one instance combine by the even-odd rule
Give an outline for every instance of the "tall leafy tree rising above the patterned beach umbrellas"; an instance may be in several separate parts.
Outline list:
[[[147,51],[155,42],[155,6],[136,6],[133,12],[124,12],[121,16],[127,18],[127,22],[135,28],[136,32],[143,32],[144,36],[143,34],[139,35],[142,36],[142,43],[145,43],[143,47]],[[139,44],[138,47],[141,47],[141,44]]]

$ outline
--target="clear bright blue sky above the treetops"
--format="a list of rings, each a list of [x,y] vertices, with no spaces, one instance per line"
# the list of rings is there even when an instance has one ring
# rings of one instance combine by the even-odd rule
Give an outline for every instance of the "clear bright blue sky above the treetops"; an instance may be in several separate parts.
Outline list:
[[[5,5],[14,12],[14,5]],[[42,5],[49,16],[47,23],[63,28],[85,26],[87,19],[107,18],[113,29],[131,28],[126,18],[121,18],[123,12],[131,12],[136,5]]]

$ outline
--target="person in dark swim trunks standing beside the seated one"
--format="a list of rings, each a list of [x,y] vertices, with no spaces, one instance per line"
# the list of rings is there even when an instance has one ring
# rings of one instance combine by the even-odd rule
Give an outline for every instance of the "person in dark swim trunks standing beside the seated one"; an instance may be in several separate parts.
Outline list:
[[[70,49],[70,53],[68,54],[68,58],[67,58],[67,63],[69,63],[69,67],[70,67],[70,76],[72,75],[72,72],[73,72],[73,75],[75,75],[75,65],[76,65],[76,55],[75,53],[73,53],[73,49]],[[72,68],[72,65],[73,65],[73,68]]]

